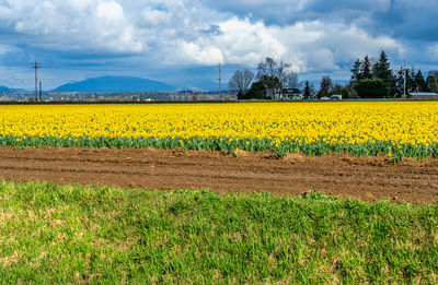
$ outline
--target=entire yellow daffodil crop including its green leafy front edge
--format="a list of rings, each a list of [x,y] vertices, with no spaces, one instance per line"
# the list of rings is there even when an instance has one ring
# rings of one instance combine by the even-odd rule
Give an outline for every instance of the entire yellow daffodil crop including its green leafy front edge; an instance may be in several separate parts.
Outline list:
[[[0,106],[0,144],[438,157],[438,102]]]

